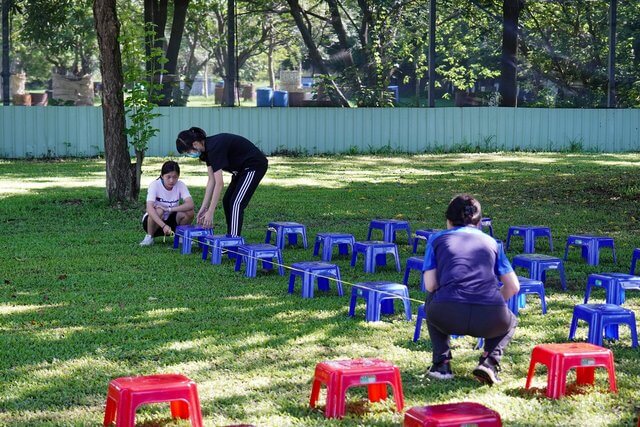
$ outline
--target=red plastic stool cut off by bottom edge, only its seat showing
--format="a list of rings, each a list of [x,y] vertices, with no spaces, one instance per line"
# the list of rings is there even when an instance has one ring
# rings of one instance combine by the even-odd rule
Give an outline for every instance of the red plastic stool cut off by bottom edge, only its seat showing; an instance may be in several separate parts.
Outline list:
[[[404,414],[404,427],[500,427],[502,420],[496,411],[474,402],[414,406]]]

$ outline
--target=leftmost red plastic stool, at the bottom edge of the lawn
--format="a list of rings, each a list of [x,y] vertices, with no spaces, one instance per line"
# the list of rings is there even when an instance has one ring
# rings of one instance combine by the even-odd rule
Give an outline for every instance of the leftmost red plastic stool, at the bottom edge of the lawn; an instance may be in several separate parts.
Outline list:
[[[134,427],[136,408],[145,403],[170,402],[171,416],[191,419],[202,426],[200,400],[196,383],[184,375],[161,374],[116,378],[109,383],[104,425],[114,420],[117,427]]]

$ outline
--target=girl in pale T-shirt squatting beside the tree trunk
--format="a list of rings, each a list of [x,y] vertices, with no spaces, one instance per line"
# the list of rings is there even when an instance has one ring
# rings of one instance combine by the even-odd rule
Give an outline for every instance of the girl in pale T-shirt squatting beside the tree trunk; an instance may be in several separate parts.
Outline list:
[[[151,246],[154,237],[169,235],[177,225],[193,221],[193,199],[179,178],[180,166],[168,161],[162,165],[160,177],[149,185],[147,211],[142,217],[142,228],[147,234],[140,246]]]

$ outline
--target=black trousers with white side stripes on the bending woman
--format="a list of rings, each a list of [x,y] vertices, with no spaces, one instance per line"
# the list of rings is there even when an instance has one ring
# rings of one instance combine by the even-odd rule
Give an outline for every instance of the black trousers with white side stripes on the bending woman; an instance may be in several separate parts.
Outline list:
[[[267,173],[266,162],[264,166],[243,169],[231,178],[231,183],[222,198],[228,235],[240,236],[242,233],[244,210],[249,205],[251,196],[258,188],[265,173]]]

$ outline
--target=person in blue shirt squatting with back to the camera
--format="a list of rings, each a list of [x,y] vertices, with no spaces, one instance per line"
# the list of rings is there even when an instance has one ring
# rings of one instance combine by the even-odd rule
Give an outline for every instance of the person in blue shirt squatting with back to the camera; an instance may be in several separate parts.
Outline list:
[[[473,375],[495,384],[500,359],[517,320],[506,301],[520,290],[502,244],[483,233],[480,203],[470,195],[454,197],[446,212],[447,229],[431,236],[424,258],[425,304],[433,346],[428,375],[451,379],[450,335],[484,338],[484,352]],[[500,286],[499,280],[502,282]]]

